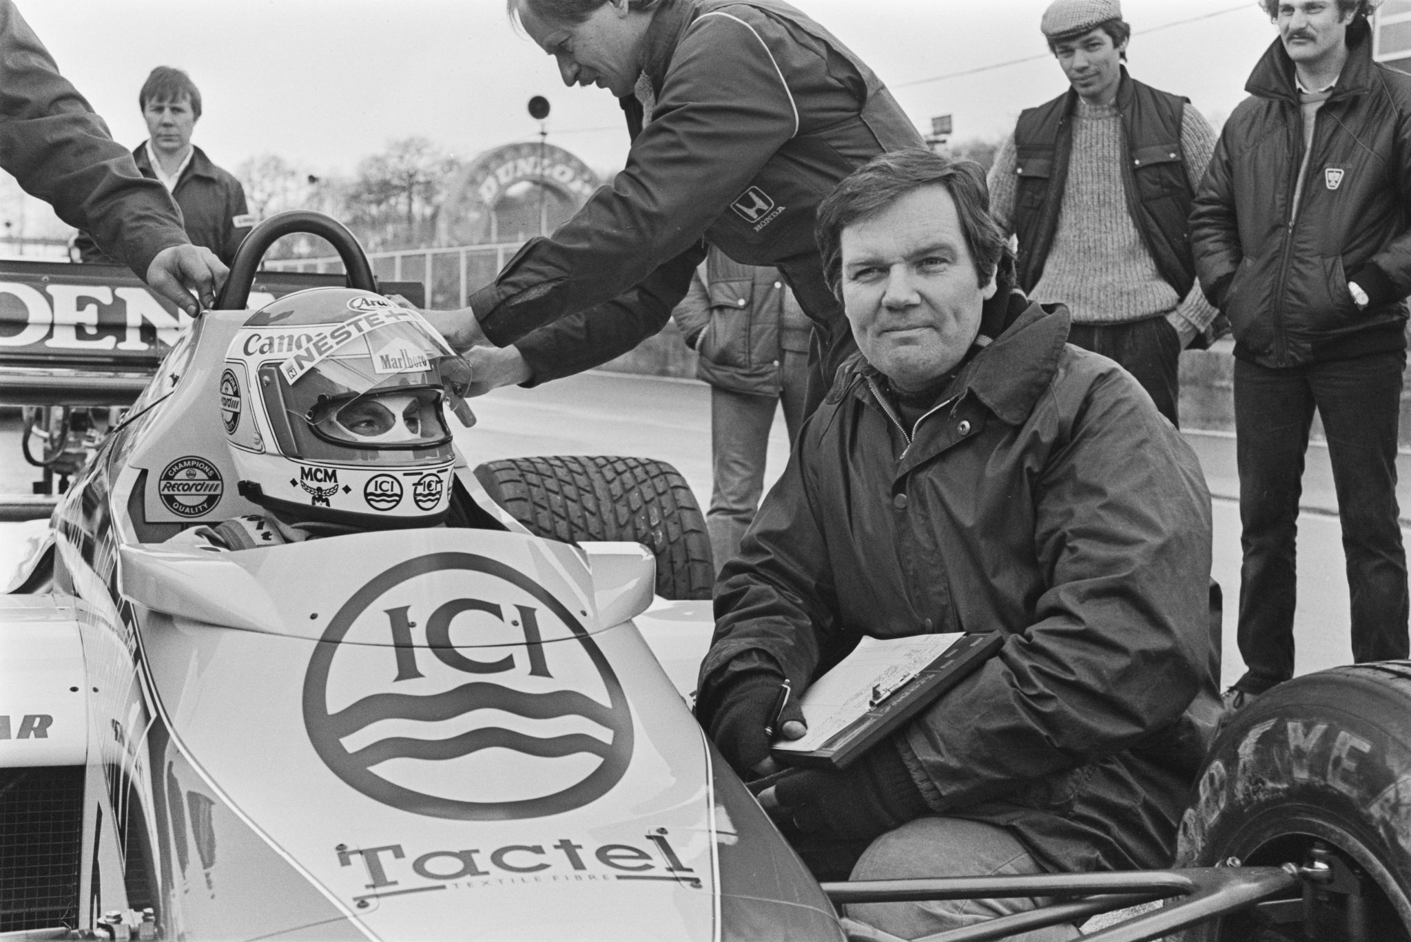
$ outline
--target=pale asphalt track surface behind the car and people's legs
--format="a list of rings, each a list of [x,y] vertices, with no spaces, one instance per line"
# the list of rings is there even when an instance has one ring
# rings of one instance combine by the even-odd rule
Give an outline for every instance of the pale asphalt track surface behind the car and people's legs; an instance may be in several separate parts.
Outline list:
[[[473,467],[529,454],[650,457],[673,464],[701,506],[708,505],[710,389],[701,382],[590,372],[535,389],[499,389],[474,399],[471,408],[478,417],[476,427],[459,430],[456,437]],[[20,457],[17,429],[13,417],[0,417],[0,492],[4,494],[28,492],[34,478]],[[1235,646],[1240,561],[1235,441],[1228,434],[1199,432],[1187,433],[1187,440],[1201,458],[1213,498],[1213,575],[1225,588],[1222,681],[1230,684],[1245,670]],[[779,477],[787,458],[789,443],[779,416],[769,443],[766,487]],[[1411,516],[1411,455],[1403,455],[1398,465],[1405,525]],[[1352,661],[1336,498],[1328,453],[1319,446],[1308,450],[1302,505],[1294,625],[1300,674]],[[0,542],[4,539],[0,525]]]

